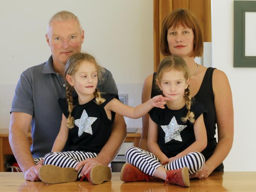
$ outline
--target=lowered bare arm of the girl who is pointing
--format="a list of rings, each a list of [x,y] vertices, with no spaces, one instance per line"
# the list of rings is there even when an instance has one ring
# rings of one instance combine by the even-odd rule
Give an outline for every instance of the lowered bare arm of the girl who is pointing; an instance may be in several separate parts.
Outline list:
[[[52,152],[62,151],[67,142],[69,136],[69,129],[67,128],[66,123],[67,118],[64,114],[62,114],[61,126],[59,129],[59,133],[54,141]]]

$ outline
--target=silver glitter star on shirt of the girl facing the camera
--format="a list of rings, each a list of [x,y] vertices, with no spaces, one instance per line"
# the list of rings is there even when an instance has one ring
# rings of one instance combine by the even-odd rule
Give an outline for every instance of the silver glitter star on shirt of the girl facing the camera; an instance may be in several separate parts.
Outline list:
[[[175,116],[173,116],[169,125],[161,127],[165,132],[165,143],[167,143],[172,139],[182,141],[182,138],[180,137],[180,132],[187,126],[178,125]]]

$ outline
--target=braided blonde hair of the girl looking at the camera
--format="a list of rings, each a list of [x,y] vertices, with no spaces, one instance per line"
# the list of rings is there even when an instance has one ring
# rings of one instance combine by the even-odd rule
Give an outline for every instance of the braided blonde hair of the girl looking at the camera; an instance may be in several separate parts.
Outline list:
[[[158,66],[157,74],[156,74],[156,85],[161,83],[163,72],[170,71],[172,69],[182,71],[184,73],[184,78],[189,79],[189,69],[187,68],[186,61],[182,57],[171,55],[169,57],[165,57]],[[189,85],[187,89],[185,89],[185,100],[186,100],[186,107],[187,107],[187,115],[185,117],[182,117],[182,122],[186,123],[187,120],[189,120],[191,123],[195,122],[195,114],[190,111],[191,110],[191,104],[192,104],[192,97],[190,95]]]

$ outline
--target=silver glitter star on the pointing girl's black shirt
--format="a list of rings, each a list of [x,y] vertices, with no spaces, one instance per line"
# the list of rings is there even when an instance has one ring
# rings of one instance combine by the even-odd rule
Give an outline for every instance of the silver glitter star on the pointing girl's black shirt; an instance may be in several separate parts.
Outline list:
[[[80,137],[83,134],[83,132],[93,135],[93,130],[91,129],[91,125],[93,124],[93,122],[95,122],[96,119],[97,119],[96,117],[88,117],[88,114],[83,109],[81,118],[76,119],[74,121],[75,125],[78,126],[78,136]]]

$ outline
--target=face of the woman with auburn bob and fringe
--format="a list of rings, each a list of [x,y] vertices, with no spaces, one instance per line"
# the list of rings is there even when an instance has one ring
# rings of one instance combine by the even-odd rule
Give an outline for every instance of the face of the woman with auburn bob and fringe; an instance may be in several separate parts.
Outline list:
[[[173,26],[167,31],[167,41],[170,53],[180,57],[193,57],[194,33],[193,30],[181,24]]]

